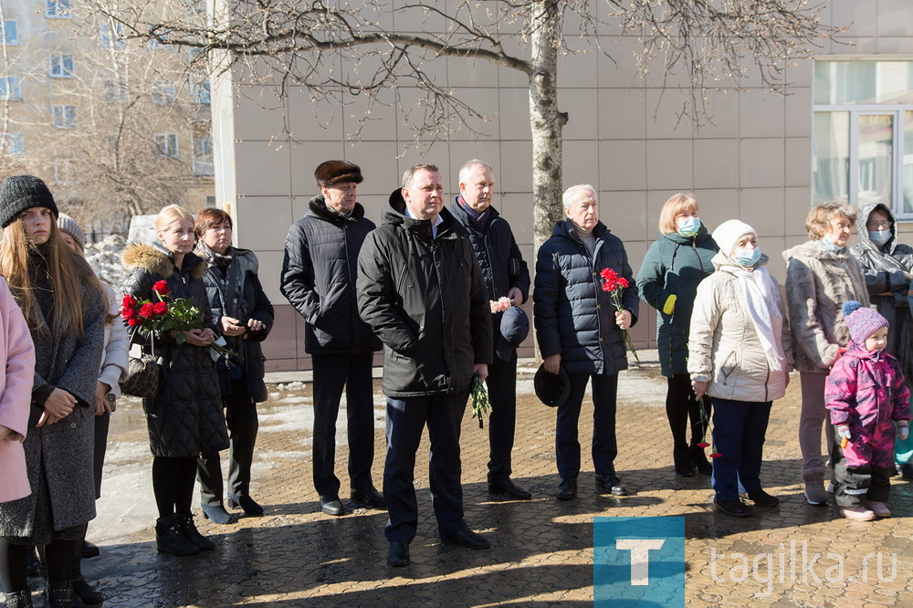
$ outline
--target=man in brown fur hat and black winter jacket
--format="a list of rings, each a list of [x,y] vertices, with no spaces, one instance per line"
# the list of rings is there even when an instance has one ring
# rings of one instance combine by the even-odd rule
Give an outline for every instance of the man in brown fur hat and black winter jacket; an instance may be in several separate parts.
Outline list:
[[[374,489],[373,353],[381,349],[371,328],[358,318],[356,263],[365,236],[374,228],[355,200],[362,171],[348,161],[327,161],[314,172],[320,195],[308,214],[289,229],[282,264],[282,295],[306,322],[305,348],[314,372],[314,487],[320,509],[344,515],[340,480],[333,474],[336,417],[346,389],[349,422],[349,479],[352,500],[386,507]]]

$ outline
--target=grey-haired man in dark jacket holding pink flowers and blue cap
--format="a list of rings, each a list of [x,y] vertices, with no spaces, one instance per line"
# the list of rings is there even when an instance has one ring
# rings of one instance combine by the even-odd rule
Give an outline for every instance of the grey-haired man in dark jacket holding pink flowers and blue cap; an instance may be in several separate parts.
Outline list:
[[[530,292],[530,271],[519,253],[507,220],[491,206],[495,173],[488,162],[472,160],[459,170],[459,192],[450,213],[466,229],[478,266],[485,279],[488,299],[508,298],[519,306]],[[517,421],[517,350],[501,335],[503,312],[490,316],[495,356],[488,366],[488,490],[509,498],[528,500],[532,495],[510,479],[510,451]],[[498,343],[503,348],[498,349]]]

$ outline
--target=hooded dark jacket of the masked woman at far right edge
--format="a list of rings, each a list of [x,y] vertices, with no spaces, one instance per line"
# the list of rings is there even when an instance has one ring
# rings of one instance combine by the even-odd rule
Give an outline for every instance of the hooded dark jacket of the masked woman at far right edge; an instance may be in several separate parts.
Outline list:
[[[868,237],[866,229],[868,216],[876,210],[891,220],[892,236],[880,247]],[[910,319],[909,281],[904,275],[913,272],[913,247],[897,242],[897,222],[884,204],[866,204],[860,208],[856,225],[859,226],[859,242],[850,248],[850,252],[862,265],[869,298],[890,323],[887,351],[897,357],[907,383],[913,383],[913,320]]]

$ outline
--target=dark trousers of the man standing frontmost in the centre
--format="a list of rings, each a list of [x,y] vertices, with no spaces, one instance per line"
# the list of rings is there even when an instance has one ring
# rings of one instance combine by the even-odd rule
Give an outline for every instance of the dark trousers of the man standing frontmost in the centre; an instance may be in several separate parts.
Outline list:
[[[383,498],[390,518],[383,530],[387,540],[408,543],[415,539],[415,453],[425,425],[431,442],[428,478],[437,528],[441,536],[453,536],[467,528],[463,521],[459,433],[468,396],[464,391],[387,398],[387,458],[383,466]]]

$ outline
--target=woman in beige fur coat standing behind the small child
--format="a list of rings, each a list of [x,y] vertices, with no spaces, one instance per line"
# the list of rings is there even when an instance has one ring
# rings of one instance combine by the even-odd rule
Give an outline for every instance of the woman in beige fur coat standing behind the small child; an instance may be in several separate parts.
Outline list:
[[[821,427],[828,453],[834,445],[834,427],[824,424],[824,380],[840,349],[850,340],[843,305],[851,299],[863,306],[869,303],[862,267],[846,247],[855,219],[855,208],[848,204],[819,204],[805,218],[805,231],[811,240],[783,252],[792,348],[802,380],[799,447],[805,501],[810,505],[826,505],[828,498]]]

